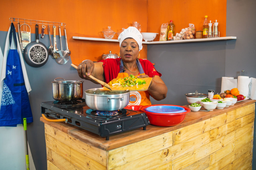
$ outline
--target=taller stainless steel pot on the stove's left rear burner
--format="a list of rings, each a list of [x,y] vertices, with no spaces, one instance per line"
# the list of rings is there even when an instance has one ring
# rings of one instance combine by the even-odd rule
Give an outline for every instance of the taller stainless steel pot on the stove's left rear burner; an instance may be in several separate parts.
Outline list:
[[[62,78],[56,78],[62,79]],[[56,81],[52,82],[52,96],[55,100],[79,100],[83,97],[83,81]]]

